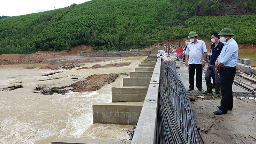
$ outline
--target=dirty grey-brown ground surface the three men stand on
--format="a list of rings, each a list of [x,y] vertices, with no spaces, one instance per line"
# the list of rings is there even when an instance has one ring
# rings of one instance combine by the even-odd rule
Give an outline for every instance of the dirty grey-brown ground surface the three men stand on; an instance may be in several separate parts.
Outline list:
[[[176,66],[180,68],[176,69],[176,72],[180,76],[185,88],[188,89],[188,67],[185,67],[183,63],[176,62]],[[204,74],[203,74],[204,79]],[[203,89],[206,89],[205,80],[203,80]],[[214,89],[213,89],[214,91]],[[233,84],[233,92],[238,93],[250,93],[249,91],[240,88]],[[203,95],[197,89],[191,91],[197,95]],[[190,92],[188,93],[189,95]],[[256,100],[255,97],[250,99],[245,97],[233,98],[233,110],[228,111],[227,114],[215,115],[214,111],[217,111],[217,106],[220,105],[221,98],[211,98],[206,96],[205,99],[196,98],[196,101],[191,102],[194,120],[198,127],[203,130],[209,129],[208,134],[204,131],[200,131],[202,139],[205,144],[255,144],[256,140]]]

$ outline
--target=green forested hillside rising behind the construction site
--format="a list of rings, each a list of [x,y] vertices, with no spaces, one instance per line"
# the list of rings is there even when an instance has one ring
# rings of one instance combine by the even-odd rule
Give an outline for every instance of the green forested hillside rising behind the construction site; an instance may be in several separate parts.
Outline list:
[[[238,43],[256,44],[256,0],[92,0],[0,19],[0,54],[145,48],[143,40],[185,38],[232,29]]]

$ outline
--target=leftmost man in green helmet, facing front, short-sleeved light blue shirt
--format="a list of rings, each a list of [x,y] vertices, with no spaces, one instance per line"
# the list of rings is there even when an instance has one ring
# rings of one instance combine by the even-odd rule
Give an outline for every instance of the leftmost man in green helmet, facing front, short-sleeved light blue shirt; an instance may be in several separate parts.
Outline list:
[[[205,66],[206,59],[206,46],[204,41],[197,39],[197,34],[194,31],[191,31],[188,34],[190,43],[187,46],[185,52],[186,62],[185,66],[188,64],[188,74],[189,74],[189,89],[188,91],[194,90],[194,76],[196,70],[196,87],[199,91],[204,91],[202,86],[202,75],[203,67]]]

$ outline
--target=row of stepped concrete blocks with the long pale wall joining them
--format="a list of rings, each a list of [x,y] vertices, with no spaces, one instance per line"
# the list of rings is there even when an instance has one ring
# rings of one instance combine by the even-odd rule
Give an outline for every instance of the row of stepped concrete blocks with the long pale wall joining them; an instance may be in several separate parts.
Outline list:
[[[130,72],[130,78],[123,78],[122,87],[112,88],[112,102],[131,101],[142,102],[143,104],[108,103],[93,105],[93,123],[113,124],[137,124],[137,133],[143,132],[143,139],[148,143],[155,136],[156,129],[156,107],[159,88],[161,58],[150,55],[134,72]],[[145,123],[145,121],[147,123]],[[140,132],[141,131],[141,132]],[[141,143],[136,140],[122,141],[122,143]],[[141,141],[139,140],[139,141]],[[103,142],[104,141],[104,142]],[[80,139],[57,137],[52,144],[65,143],[119,143],[117,140]]]

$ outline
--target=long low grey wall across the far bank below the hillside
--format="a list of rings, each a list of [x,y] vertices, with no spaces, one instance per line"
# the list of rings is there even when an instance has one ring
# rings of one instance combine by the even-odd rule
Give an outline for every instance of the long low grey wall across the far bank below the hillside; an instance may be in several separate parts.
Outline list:
[[[151,51],[111,51],[106,53],[78,53],[81,56],[147,56],[150,55]]]

